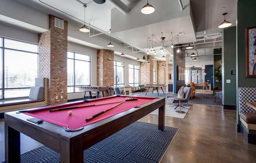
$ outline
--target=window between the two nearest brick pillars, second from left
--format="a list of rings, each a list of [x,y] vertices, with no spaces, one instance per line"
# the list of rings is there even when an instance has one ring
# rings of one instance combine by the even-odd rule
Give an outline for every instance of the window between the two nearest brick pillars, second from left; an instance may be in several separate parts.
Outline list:
[[[91,56],[68,51],[68,93],[80,92],[77,87],[91,85]]]

